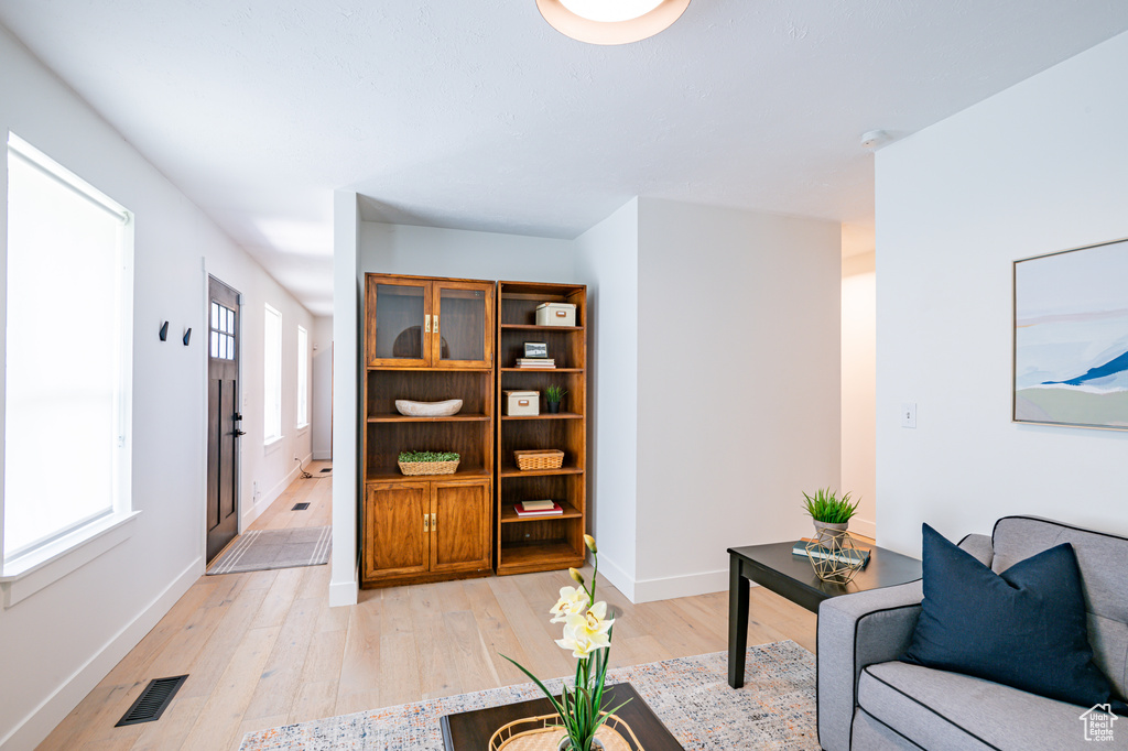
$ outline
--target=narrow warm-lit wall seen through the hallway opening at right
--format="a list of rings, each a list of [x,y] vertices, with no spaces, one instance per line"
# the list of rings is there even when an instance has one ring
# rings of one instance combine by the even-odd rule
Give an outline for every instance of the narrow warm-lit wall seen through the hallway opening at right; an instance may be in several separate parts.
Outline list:
[[[851,529],[876,534],[878,297],[873,251],[843,258],[843,478],[858,502]]]

